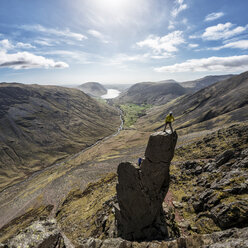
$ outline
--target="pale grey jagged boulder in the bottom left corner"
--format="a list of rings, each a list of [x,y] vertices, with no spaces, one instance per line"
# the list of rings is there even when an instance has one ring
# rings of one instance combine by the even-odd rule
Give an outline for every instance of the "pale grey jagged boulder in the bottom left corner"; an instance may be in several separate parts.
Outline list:
[[[8,248],[66,248],[55,220],[35,221],[18,235],[7,241]]]

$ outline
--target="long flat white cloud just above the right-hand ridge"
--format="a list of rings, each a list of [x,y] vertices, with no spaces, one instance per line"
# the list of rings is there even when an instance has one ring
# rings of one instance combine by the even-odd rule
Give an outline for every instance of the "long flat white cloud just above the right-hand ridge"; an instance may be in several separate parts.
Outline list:
[[[157,72],[202,72],[202,71],[242,71],[247,70],[248,55],[230,57],[209,57],[190,59],[183,63],[157,67]]]

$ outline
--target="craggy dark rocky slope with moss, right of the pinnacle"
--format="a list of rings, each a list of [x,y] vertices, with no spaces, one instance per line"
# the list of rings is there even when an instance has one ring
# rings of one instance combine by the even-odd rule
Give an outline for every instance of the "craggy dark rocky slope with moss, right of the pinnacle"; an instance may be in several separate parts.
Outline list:
[[[247,227],[247,144],[248,126],[235,125],[178,148],[171,193],[183,220],[181,232]],[[205,153],[193,152],[197,147]]]

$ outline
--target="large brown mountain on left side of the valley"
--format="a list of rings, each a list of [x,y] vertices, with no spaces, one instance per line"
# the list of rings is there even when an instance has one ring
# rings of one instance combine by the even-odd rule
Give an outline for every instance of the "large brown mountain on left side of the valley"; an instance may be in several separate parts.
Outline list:
[[[77,89],[0,84],[0,189],[117,131],[118,111]]]

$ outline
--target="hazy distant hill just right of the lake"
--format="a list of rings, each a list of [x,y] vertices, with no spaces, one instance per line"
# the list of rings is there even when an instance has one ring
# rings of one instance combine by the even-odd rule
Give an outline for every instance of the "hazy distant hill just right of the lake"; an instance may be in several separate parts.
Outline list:
[[[185,94],[187,90],[174,80],[161,82],[144,82],[131,86],[122,93],[115,101],[135,104],[161,105]]]

